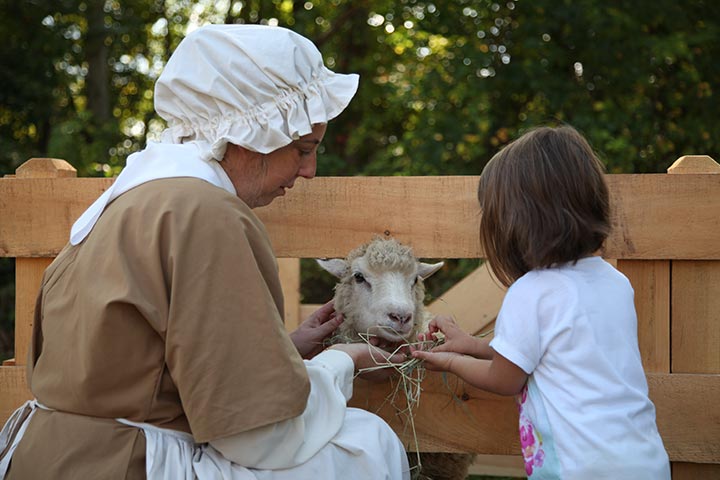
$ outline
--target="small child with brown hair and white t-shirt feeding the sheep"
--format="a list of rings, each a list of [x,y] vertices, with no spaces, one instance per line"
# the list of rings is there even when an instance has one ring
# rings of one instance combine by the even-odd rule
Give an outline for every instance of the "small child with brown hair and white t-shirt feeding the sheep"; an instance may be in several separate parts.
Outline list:
[[[571,127],[533,130],[483,170],[480,239],[507,287],[492,341],[447,317],[415,351],[431,370],[517,395],[532,479],[669,479],[648,398],[633,290],[595,256],[610,230],[603,167]]]

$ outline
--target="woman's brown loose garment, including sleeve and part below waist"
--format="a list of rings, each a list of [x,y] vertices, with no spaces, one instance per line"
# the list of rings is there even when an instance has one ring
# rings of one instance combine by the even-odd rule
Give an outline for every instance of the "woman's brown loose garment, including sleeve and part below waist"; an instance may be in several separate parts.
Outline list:
[[[143,478],[141,431],[197,442],[302,413],[309,382],[285,333],[265,228],[194,178],[113,201],[48,267],[28,378],[38,410],[9,478]]]

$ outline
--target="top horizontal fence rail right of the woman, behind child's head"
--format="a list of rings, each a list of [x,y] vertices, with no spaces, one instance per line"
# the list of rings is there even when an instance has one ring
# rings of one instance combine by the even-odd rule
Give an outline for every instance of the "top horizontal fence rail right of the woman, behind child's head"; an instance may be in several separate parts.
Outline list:
[[[720,177],[608,175],[604,256],[720,259]],[[477,177],[349,177],[301,182],[258,214],[279,256],[343,256],[392,235],[425,258],[482,257]],[[432,192],[429,194],[429,192]]]

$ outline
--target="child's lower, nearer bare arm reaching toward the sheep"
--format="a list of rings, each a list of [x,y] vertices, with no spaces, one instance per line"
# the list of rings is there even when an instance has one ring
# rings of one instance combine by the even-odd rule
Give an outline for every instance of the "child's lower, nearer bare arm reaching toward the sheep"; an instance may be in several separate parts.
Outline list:
[[[470,385],[500,395],[520,393],[528,374],[502,355],[483,360],[455,352],[416,350],[413,357],[425,361],[428,370],[454,373]]]

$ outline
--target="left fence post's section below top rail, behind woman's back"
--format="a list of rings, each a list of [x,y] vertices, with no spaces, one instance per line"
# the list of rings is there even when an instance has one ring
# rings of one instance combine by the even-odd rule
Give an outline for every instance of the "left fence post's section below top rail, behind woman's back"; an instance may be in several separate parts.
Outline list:
[[[52,258],[15,260],[15,365],[27,365],[35,302],[45,269]]]

